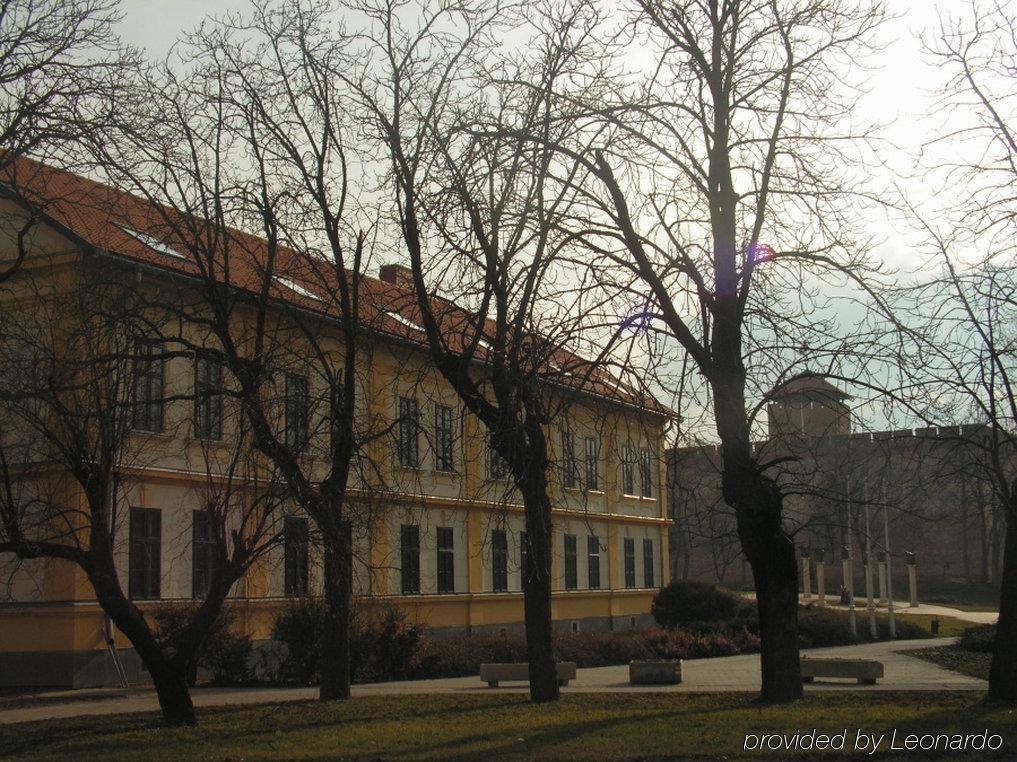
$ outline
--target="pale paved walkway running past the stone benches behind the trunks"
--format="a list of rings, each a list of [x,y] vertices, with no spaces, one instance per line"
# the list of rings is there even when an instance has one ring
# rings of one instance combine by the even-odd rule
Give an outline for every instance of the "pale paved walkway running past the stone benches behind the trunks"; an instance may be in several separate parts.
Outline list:
[[[943,669],[923,659],[907,656],[903,651],[947,645],[954,639],[904,640],[888,643],[865,643],[836,648],[816,648],[803,653],[824,656],[851,656],[875,658],[883,662],[886,677],[875,686],[859,686],[854,681],[823,681],[805,687],[806,691],[982,691],[985,682],[968,678],[959,672]],[[577,679],[564,693],[645,692],[661,693],[719,693],[728,691],[758,691],[760,688],[759,654],[724,656],[712,659],[686,660],[683,680],[677,686],[632,686],[629,667],[602,666],[579,669]],[[376,683],[354,686],[356,696],[385,696],[396,694],[459,693],[490,694],[492,692],[524,692],[518,687],[487,688],[478,678],[450,678],[401,683]],[[317,697],[315,688],[204,688],[193,692],[195,706],[239,706],[270,704],[283,701],[304,701]],[[4,703],[7,706],[4,706]],[[59,717],[75,717],[129,712],[155,712],[159,710],[156,694],[151,689],[131,691],[66,691],[25,697],[21,702],[7,700],[0,703],[0,724],[29,722]]]

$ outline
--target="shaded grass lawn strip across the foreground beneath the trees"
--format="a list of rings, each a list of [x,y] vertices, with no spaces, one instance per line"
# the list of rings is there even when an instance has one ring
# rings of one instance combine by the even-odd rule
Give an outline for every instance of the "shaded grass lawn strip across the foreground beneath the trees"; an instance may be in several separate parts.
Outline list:
[[[371,697],[206,710],[187,728],[160,727],[151,714],[0,725],[0,749],[25,759],[758,758],[759,751],[743,750],[746,734],[846,730],[844,751],[857,753],[859,730],[887,734],[884,751],[894,729],[899,738],[988,729],[1003,738],[1000,755],[1012,755],[1017,711],[980,700],[971,693],[850,691],[782,707],[757,706],[745,694],[572,694],[550,705],[532,705],[521,694]]]

